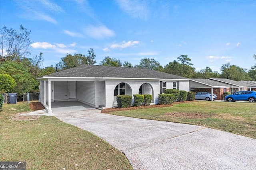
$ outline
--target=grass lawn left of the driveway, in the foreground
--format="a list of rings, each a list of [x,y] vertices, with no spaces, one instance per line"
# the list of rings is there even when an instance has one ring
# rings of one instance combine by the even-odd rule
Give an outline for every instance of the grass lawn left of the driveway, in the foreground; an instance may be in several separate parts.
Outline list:
[[[26,111],[30,111],[28,104],[20,102],[4,104],[0,110],[0,161],[26,161],[28,170],[132,169],[122,152],[55,117],[12,120]]]

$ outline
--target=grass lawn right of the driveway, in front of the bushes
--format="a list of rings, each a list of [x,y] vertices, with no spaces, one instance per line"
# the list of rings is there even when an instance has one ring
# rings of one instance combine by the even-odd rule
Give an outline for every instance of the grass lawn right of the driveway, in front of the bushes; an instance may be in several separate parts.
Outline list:
[[[108,114],[200,125],[256,138],[256,103],[199,101]]]

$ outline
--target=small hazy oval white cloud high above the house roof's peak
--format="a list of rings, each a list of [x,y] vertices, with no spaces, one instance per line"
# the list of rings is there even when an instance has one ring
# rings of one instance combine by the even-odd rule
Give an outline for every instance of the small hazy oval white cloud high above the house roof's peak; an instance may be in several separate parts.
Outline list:
[[[95,39],[103,39],[105,37],[113,37],[115,32],[108,29],[105,25],[101,26],[89,26],[85,29],[85,33]]]

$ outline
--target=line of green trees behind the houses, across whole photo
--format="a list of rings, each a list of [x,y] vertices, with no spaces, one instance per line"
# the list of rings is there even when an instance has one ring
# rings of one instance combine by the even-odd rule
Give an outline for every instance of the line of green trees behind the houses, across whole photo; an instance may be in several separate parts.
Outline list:
[[[82,64],[96,64],[94,49],[89,49],[88,54],[66,54],[55,66],[42,68],[43,53],[31,57],[30,32],[20,25],[20,29],[0,29],[0,92],[15,92],[20,95],[26,92],[38,92],[39,82],[36,78],[51,74],[57,71],[66,70]],[[5,54],[4,54],[5,53]],[[256,60],[256,55],[252,56]],[[166,72],[186,78],[228,78],[231,80],[256,80],[256,64],[250,70],[230,63],[222,64],[220,72],[213,71],[206,67],[196,71],[191,59],[187,55],[180,55],[165,66],[162,66],[155,59],[145,58],[139,64],[132,65],[128,61],[106,56],[98,64],[103,66],[124,66],[136,68],[148,68],[160,72]]]

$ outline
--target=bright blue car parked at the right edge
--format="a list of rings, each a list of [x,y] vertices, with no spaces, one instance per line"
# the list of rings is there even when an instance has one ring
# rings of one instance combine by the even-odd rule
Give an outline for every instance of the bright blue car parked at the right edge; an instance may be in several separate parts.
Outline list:
[[[256,102],[256,92],[254,91],[240,91],[234,94],[225,96],[225,100],[228,102],[236,102],[237,100],[247,100],[249,102]]]

